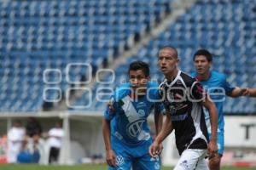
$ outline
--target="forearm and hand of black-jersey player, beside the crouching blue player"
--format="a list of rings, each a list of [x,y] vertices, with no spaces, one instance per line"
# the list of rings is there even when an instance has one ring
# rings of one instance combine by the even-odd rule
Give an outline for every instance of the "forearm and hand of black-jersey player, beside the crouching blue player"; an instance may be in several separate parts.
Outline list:
[[[156,136],[154,139],[154,143],[151,144],[149,147],[149,154],[150,156],[157,156],[160,154],[161,151],[161,143],[166,137],[172,133],[173,127],[172,127],[172,120],[171,120],[171,114],[166,112],[166,121],[163,124],[163,127],[160,130],[160,133]]]

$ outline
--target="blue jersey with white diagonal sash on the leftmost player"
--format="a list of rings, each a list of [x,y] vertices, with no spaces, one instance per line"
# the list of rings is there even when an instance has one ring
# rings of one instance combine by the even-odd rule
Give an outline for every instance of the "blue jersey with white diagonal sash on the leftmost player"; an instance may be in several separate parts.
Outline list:
[[[137,100],[131,99],[131,84],[125,83],[117,88],[111,98],[114,108],[105,111],[104,116],[111,120],[111,133],[113,140],[118,139],[124,144],[138,145],[151,140],[147,117],[155,110],[162,112],[158,85],[148,82],[147,95]],[[158,101],[158,102],[157,102]]]

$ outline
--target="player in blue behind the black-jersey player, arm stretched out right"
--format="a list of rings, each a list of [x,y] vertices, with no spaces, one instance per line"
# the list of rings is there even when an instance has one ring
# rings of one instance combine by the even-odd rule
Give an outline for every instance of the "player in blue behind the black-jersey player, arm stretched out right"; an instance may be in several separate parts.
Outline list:
[[[230,83],[227,82],[227,77],[224,74],[218,71],[212,71],[212,54],[206,49],[200,49],[195,52],[194,65],[196,72],[193,73],[192,76],[196,77],[197,80],[201,82],[203,88],[207,90],[207,94],[211,96],[211,99],[218,109],[218,154],[209,160],[210,169],[215,170],[220,168],[221,157],[224,153],[224,97],[228,95],[236,98],[248,94],[253,96],[253,93],[249,93],[248,88],[232,87]],[[204,110],[204,112],[208,133],[211,137],[209,114],[207,110]]]

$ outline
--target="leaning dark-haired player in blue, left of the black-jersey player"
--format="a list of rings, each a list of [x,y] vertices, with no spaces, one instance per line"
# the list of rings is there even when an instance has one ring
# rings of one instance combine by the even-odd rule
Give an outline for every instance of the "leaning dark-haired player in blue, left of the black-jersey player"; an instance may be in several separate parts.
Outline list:
[[[130,82],[115,90],[102,121],[107,163],[110,170],[158,170],[159,158],[148,154],[153,139],[147,122],[154,111],[156,133],[160,131],[165,110],[158,84],[149,82],[149,67],[143,61],[131,63],[128,74]]]

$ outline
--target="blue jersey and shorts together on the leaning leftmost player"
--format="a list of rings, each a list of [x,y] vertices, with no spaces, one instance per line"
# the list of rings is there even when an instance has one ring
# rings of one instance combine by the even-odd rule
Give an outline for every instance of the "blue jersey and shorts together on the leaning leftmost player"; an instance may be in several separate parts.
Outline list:
[[[152,111],[162,113],[158,84],[148,82],[147,95],[131,99],[131,84],[125,83],[116,89],[104,117],[111,120],[111,145],[116,154],[116,169],[159,170],[160,160],[149,156],[148,148],[153,140],[150,136],[147,117]],[[158,100],[158,102],[157,102]]]

